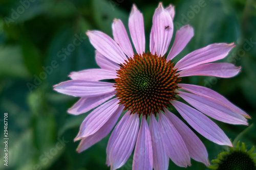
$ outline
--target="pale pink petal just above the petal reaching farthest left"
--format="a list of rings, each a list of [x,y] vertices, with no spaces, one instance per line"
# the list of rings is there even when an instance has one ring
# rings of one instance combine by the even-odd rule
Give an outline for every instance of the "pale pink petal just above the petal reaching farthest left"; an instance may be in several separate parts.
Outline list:
[[[113,71],[100,69],[100,68],[93,68],[93,69],[86,69],[78,72],[71,72],[69,77],[73,80],[105,80],[105,79],[115,79],[117,78],[117,74]]]

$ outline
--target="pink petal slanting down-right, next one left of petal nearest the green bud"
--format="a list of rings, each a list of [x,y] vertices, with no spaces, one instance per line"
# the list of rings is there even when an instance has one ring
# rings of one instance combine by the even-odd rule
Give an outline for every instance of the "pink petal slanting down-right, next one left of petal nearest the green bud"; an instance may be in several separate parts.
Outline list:
[[[176,115],[172,112],[164,109],[166,117],[172,122],[174,127],[182,136],[189,156],[196,161],[203,162],[206,166],[209,165],[208,154],[203,142],[197,137],[197,135],[186,126]]]

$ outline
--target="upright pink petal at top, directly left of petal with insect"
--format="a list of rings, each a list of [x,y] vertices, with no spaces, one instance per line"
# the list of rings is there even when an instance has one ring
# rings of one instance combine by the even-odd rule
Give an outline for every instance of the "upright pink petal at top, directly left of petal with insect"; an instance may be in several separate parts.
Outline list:
[[[136,52],[142,55],[145,52],[144,20],[142,13],[135,5],[129,16],[129,30]]]

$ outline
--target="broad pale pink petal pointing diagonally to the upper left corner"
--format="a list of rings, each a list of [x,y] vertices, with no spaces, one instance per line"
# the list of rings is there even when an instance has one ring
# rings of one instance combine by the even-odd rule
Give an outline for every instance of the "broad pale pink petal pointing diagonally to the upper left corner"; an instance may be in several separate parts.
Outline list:
[[[88,35],[91,44],[106,58],[117,64],[124,63],[124,60],[127,59],[121,48],[110,36],[100,31],[88,31],[86,34]]]

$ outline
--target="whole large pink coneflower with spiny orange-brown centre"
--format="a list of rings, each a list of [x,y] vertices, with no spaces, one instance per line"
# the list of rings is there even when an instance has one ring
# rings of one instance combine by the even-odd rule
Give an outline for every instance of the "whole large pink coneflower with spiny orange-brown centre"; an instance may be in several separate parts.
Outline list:
[[[225,133],[207,116],[228,124],[248,125],[245,117],[249,115],[219,93],[181,83],[182,77],[187,76],[236,76],[241,67],[211,63],[227,56],[234,44],[210,44],[175,64],[172,59],[183,50],[194,31],[188,25],[180,28],[166,54],[174,30],[174,14],[172,5],[163,8],[159,4],[153,16],[150,52],[145,52],[143,15],[135,5],[129,17],[129,30],[136,52],[119,19],[112,25],[114,40],[100,31],[87,32],[96,48],[100,69],[72,72],[72,80],[54,86],[58,92],[81,98],[69,113],[78,115],[96,108],[83,120],[75,138],[75,141],[81,139],[78,152],[108,135],[122,111],[127,110],[106,148],[106,164],[111,169],[124,165],[134,147],[133,169],[167,169],[169,158],[178,166],[190,165],[190,158],[208,166],[204,144],[168,108],[175,108],[192,128],[221,145],[232,146]],[[101,81],[106,79],[114,79],[115,83]],[[179,102],[178,96],[194,108]]]

